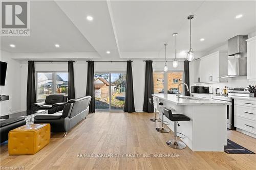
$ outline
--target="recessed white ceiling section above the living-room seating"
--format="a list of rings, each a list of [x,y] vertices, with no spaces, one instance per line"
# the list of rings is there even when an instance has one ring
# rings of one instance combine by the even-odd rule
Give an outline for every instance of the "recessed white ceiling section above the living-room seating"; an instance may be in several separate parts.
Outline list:
[[[30,36],[1,36],[1,49],[9,52],[95,52],[54,1],[30,5]],[[60,48],[54,44],[58,43]],[[11,48],[9,44],[15,44]]]

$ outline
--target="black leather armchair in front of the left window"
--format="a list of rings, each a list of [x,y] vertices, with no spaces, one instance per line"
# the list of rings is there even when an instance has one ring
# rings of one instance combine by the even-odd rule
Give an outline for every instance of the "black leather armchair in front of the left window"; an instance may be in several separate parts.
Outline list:
[[[34,103],[33,110],[48,110],[48,114],[53,114],[63,110],[68,96],[62,94],[50,94],[46,96],[45,102]]]

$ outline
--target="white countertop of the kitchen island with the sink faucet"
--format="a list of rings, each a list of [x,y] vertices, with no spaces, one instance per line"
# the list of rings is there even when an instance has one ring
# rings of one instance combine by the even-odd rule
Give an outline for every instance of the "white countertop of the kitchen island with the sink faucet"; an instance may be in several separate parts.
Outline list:
[[[185,97],[190,99],[180,98],[178,100],[176,94],[152,94],[152,95],[156,96],[157,98],[163,101],[171,102],[176,105],[230,105],[229,102],[217,101],[217,100],[211,100],[211,99],[193,98],[185,95],[180,95],[180,97]],[[193,99],[197,99],[197,100],[193,100]]]

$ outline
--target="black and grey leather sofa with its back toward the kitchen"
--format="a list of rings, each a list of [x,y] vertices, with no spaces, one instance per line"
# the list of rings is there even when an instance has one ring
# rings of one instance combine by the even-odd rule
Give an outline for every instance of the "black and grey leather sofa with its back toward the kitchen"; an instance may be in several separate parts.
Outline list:
[[[51,132],[65,132],[66,136],[66,132],[87,117],[90,102],[91,96],[69,100],[61,112],[36,115],[34,124],[50,124]]]

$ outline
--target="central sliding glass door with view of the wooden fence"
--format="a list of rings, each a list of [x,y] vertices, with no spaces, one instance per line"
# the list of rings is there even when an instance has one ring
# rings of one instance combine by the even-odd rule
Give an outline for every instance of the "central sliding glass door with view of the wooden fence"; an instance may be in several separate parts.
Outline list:
[[[124,72],[96,72],[94,74],[95,109],[97,111],[120,111],[124,107]]]

